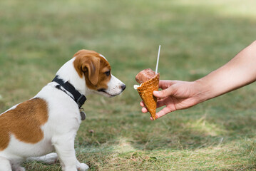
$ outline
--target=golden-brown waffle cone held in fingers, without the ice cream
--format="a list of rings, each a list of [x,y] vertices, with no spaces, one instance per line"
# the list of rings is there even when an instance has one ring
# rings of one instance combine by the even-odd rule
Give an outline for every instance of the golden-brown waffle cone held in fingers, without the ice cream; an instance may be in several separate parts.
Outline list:
[[[154,78],[151,78],[148,81],[145,81],[137,90],[140,95],[140,98],[145,103],[145,107],[148,109],[153,120],[155,120],[155,111],[156,111],[156,101],[157,98],[153,95],[154,90],[158,90],[160,73],[156,74]]]

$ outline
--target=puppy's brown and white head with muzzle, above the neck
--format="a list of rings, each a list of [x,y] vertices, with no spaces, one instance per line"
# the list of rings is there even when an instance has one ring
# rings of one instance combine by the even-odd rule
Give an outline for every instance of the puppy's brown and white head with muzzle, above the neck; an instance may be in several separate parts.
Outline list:
[[[85,78],[91,92],[116,96],[123,92],[126,85],[111,74],[111,66],[101,54],[95,51],[81,50],[74,56],[73,66],[80,78]]]

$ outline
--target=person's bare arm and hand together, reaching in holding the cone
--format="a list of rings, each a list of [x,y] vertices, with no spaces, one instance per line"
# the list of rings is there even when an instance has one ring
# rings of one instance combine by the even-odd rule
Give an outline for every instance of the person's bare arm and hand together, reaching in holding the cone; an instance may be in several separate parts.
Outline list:
[[[154,91],[158,98],[157,108],[165,108],[156,113],[160,118],[175,110],[190,108],[205,100],[215,98],[256,81],[256,41],[244,48],[224,66],[193,82],[160,81],[161,91]],[[143,102],[142,112],[148,112]],[[151,118],[152,119],[152,118]]]

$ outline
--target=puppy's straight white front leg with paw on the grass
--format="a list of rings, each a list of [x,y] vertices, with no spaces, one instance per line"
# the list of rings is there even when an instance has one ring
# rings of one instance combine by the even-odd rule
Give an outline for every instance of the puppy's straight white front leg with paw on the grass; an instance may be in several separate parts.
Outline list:
[[[76,151],[74,149],[74,137],[61,136],[53,139],[53,145],[58,154],[63,171],[85,171],[88,165],[78,162],[76,159]]]

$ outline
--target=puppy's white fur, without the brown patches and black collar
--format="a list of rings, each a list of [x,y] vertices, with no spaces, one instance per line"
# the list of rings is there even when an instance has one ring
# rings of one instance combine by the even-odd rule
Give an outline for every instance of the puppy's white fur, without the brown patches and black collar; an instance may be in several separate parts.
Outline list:
[[[76,90],[84,95],[99,93],[107,96],[120,94],[123,83],[112,76],[108,83],[106,93],[96,92],[86,87],[85,78],[80,78],[73,66],[72,58],[65,63],[56,73],[63,81],[69,81]],[[62,170],[76,171],[88,170],[88,165],[78,162],[74,149],[76,132],[81,123],[81,115],[76,102],[55,86],[57,83],[48,83],[34,98],[42,98],[48,104],[48,120],[41,127],[43,140],[30,144],[17,140],[11,135],[9,146],[0,151],[0,171],[24,171],[20,167],[24,160],[39,160],[46,163],[56,162],[57,157],[61,162]],[[16,105],[11,108],[16,108]],[[10,109],[10,110],[11,110]],[[8,111],[8,110],[7,110]],[[48,154],[56,151],[56,153]],[[48,155],[47,155],[48,154]],[[40,157],[45,155],[43,157]]]

